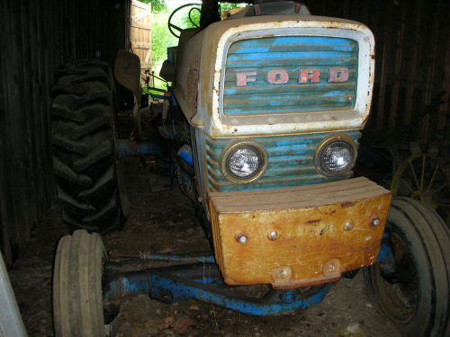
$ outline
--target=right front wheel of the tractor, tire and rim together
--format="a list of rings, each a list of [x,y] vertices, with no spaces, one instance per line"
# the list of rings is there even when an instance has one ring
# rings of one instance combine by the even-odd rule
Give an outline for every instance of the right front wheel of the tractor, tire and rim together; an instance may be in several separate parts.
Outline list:
[[[434,209],[410,198],[392,201],[382,242],[391,258],[364,270],[364,279],[369,297],[408,336],[450,335],[449,243]]]

